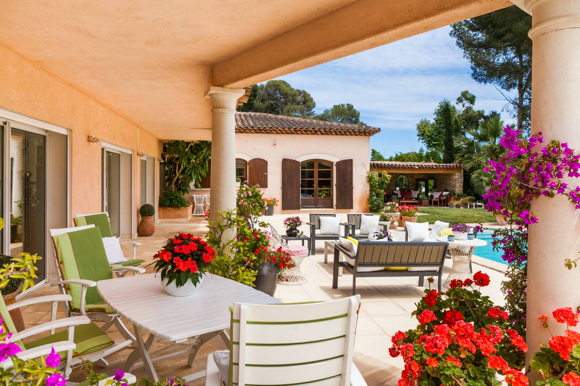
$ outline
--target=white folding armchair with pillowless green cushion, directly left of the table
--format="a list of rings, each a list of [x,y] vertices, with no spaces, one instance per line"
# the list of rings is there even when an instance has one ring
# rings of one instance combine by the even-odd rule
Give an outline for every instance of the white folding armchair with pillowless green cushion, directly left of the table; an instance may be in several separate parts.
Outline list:
[[[92,321],[104,322],[101,327],[107,331],[117,327],[126,339],[110,349],[104,356],[113,354],[128,345],[136,347],[135,336],[126,328],[119,315],[105,303],[96,289],[97,281],[113,279],[113,272],[130,271],[133,275],[145,272],[140,267],[114,267],[107,261],[103,239],[95,225],[82,227],[51,229],[52,243],[60,281],[51,283],[59,286],[61,294],[70,295],[70,300],[63,301],[64,311],[68,315],[88,316]]]

